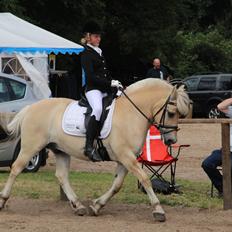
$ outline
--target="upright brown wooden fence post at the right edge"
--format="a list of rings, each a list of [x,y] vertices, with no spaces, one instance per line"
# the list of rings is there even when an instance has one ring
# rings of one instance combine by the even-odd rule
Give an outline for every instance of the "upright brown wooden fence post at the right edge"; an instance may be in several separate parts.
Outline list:
[[[221,123],[221,132],[222,132],[223,208],[226,210],[232,208],[230,124]]]

